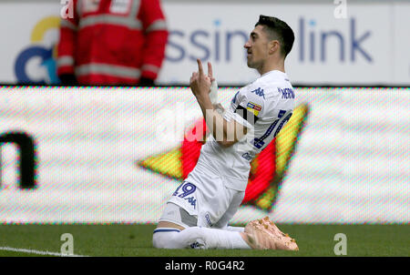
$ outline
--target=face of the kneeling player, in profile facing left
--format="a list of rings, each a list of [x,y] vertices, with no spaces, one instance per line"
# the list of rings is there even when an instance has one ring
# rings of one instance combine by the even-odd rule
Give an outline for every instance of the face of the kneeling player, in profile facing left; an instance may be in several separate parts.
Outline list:
[[[247,50],[248,66],[251,68],[261,68],[268,57],[268,37],[263,31],[262,25],[257,25],[244,45]]]

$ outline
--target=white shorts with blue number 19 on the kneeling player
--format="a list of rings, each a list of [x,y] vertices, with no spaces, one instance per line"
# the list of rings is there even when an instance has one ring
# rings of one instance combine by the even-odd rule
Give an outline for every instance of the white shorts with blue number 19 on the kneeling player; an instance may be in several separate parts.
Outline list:
[[[228,226],[245,196],[244,191],[227,188],[224,181],[224,178],[211,172],[205,175],[198,169],[194,169],[175,190],[168,202],[195,217],[198,220],[197,226],[222,229]],[[167,217],[165,212],[159,220],[175,219]],[[181,220],[174,222],[182,226],[186,224]]]

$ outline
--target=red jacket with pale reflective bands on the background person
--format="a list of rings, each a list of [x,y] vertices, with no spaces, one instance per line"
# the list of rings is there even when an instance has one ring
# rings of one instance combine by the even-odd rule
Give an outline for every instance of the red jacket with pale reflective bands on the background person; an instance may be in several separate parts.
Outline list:
[[[168,30],[160,0],[74,0],[63,19],[57,74],[84,85],[138,84],[156,79]]]

